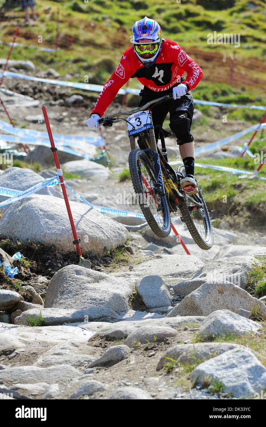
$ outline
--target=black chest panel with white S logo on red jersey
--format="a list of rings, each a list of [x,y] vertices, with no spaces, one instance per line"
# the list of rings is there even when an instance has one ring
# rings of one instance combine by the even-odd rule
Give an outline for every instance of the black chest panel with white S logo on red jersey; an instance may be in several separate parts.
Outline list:
[[[140,67],[132,77],[144,77],[154,82],[157,86],[167,85],[171,82],[171,66],[173,64],[173,62],[162,62],[160,64],[155,63],[151,67]]]

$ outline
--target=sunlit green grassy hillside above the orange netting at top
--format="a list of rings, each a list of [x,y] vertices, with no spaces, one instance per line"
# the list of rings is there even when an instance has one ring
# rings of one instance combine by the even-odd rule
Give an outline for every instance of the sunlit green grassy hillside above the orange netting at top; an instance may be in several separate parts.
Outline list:
[[[94,40],[96,43],[110,44],[110,39],[119,40],[115,29],[123,26],[128,38],[135,20],[144,15],[157,20],[163,30],[163,35],[173,38],[180,44],[201,49],[233,50],[233,45],[208,45],[207,34],[210,32],[239,33],[240,47],[237,53],[241,56],[266,58],[266,3],[262,0],[76,0],[76,1],[46,1],[37,0],[36,6],[40,16],[39,25],[47,20],[47,10],[56,12],[60,9],[60,26],[66,29],[67,20],[73,18],[89,20],[101,24],[106,31],[99,29],[92,34],[84,32],[82,26],[76,28],[74,34],[80,40]],[[5,2],[0,1],[0,5]],[[12,3],[12,2],[10,2]],[[20,10],[17,8],[15,10]],[[63,22],[64,21],[64,22]],[[56,28],[56,20],[49,19],[47,32],[52,33]],[[94,37],[91,37],[94,35]]]

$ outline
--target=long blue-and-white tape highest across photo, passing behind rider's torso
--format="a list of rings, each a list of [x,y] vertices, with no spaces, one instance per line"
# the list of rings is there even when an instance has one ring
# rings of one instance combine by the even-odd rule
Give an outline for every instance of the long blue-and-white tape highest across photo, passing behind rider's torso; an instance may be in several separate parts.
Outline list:
[[[81,82],[66,82],[64,80],[42,79],[41,77],[27,76],[26,74],[12,73],[10,71],[5,71],[4,73],[0,73],[0,77],[2,77],[3,75],[9,76],[9,77],[15,77],[18,79],[32,80],[34,82],[44,82],[44,83],[50,83],[52,85],[68,86],[71,88],[84,89],[86,91],[93,91],[93,92],[99,92],[99,93],[103,89],[103,86],[101,85],[92,85],[90,83],[81,83]],[[126,88],[126,89],[119,89],[118,94],[124,95],[128,93],[128,94],[139,95],[140,91],[141,89]],[[158,94],[160,93],[158,92]],[[219,102],[203,101],[201,99],[194,99],[194,103],[201,104],[201,105],[215,105],[217,107],[249,108],[252,110],[263,110],[263,111],[266,110],[266,106],[262,106],[262,105],[223,104]]]

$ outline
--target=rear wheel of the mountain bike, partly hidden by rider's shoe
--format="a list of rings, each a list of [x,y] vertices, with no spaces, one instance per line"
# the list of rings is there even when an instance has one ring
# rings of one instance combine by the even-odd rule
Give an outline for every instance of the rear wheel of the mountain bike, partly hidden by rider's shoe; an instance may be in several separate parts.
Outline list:
[[[176,167],[175,170],[185,175],[185,167],[183,165]],[[198,208],[195,202],[201,203],[202,207]],[[186,200],[180,201],[179,210],[195,243],[201,249],[210,249],[213,246],[213,229],[201,190],[198,188],[198,194],[193,194]]]

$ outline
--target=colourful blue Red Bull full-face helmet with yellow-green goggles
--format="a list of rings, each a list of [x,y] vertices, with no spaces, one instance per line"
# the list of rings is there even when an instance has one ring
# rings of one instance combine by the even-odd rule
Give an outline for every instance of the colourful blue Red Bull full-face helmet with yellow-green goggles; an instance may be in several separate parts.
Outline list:
[[[145,67],[151,67],[162,47],[162,31],[153,19],[145,18],[134,23],[130,41],[134,52]]]

